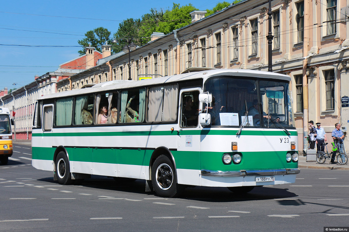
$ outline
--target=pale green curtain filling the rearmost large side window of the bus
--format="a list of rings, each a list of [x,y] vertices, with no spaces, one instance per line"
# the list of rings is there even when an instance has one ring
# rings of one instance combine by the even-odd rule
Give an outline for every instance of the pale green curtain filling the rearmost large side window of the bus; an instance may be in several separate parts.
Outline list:
[[[56,126],[72,124],[73,98],[63,98],[56,101]]]

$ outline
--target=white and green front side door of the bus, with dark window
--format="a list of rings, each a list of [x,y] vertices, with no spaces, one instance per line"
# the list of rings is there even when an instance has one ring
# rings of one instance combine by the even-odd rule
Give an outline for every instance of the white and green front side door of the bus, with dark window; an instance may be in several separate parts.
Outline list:
[[[178,183],[181,184],[200,185],[199,178],[188,178],[191,174],[197,174],[199,170],[201,130],[199,113],[202,107],[202,103],[199,102],[200,93],[202,89],[199,87],[181,89],[179,92],[177,151],[180,163],[176,165],[176,168],[177,170],[185,169],[185,171],[177,171]],[[193,173],[190,173],[191,170]]]

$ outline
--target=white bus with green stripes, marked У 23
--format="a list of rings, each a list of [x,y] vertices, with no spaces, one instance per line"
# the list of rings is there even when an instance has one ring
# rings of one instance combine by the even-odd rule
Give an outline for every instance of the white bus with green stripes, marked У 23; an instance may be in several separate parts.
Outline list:
[[[145,179],[176,197],[185,186],[294,183],[297,131],[290,77],[212,69],[110,81],[38,99],[32,165],[60,184],[103,175]]]

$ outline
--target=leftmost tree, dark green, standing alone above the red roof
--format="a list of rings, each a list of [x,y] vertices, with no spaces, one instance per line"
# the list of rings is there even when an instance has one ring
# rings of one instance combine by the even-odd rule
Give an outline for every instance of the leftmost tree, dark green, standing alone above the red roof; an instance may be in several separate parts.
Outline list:
[[[77,42],[83,48],[79,51],[80,55],[86,54],[85,47],[95,47],[97,51],[102,52],[101,46],[105,44],[105,41],[108,41],[108,44],[111,44],[110,40],[110,31],[104,27],[98,27],[94,30],[88,31],[85,33],[86,38],[78,40]],[[89,43],[91,45],[89,45]]]

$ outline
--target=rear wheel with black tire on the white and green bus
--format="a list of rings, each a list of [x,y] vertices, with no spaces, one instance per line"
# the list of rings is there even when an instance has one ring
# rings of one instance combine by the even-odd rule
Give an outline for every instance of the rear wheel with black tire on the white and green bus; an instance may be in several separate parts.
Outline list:
[[[58,153],[56,162],[55,162],[55,175],[59,184],[73,184],[74,180],[72,180],[70,174],[70,165],[69,160],[64,151]]]

